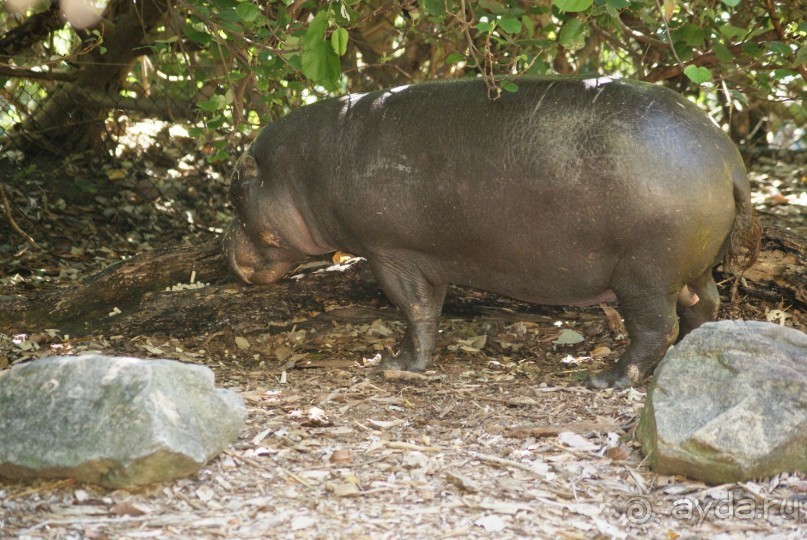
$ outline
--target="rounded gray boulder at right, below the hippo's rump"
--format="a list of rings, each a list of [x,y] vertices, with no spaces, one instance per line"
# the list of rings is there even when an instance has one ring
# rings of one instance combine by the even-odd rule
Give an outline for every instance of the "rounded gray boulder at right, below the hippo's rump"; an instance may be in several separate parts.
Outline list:
[[[720,321],[656,368],[637,429],[651,467],[711,484],[807,471],[807,334]]]

